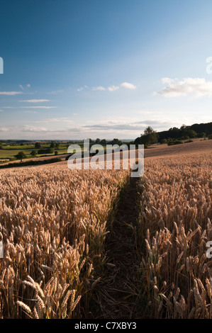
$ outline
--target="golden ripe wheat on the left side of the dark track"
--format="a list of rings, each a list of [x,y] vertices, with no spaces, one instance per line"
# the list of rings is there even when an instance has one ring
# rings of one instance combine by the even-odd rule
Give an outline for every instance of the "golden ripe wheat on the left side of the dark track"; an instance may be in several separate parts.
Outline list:
[[[1,318],[87,316],[125,171],[1,171]]]

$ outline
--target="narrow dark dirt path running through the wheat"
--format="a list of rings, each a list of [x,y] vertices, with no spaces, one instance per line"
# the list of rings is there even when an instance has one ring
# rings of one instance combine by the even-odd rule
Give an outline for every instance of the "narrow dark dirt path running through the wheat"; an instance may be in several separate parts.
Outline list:
[[[111,232],[106,238],[107,264],[96,290],[96,317],[130,319],[137,317],[138,290],[135,225],[138,219],[138,179],[130,178],[121,193]],[[139,315],[138,315],[139,317]]]

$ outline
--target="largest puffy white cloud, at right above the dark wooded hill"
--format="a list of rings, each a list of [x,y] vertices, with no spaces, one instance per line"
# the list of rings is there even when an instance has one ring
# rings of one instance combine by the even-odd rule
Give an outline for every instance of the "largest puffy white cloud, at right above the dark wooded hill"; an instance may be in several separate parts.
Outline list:
[[[162,79],[163,84],[167,84],[161,91],[154,93],[164,97],[178,97],[194,95],[196,97],[212,96],[212,81],[201,78],[186,79]]]

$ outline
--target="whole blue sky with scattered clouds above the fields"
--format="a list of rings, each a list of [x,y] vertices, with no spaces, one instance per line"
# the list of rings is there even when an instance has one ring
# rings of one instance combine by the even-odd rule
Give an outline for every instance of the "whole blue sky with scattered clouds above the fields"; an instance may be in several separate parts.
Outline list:
[[[211,13],[211,0],[1,0],[0,140],[212,121]]]

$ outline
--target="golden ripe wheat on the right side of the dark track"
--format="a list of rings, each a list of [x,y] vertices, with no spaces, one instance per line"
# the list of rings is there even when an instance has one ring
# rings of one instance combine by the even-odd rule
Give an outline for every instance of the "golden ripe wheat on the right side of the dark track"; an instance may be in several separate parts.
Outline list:
[[[147,159],[140,184],[145,315],[212,318],[212,153]]]

